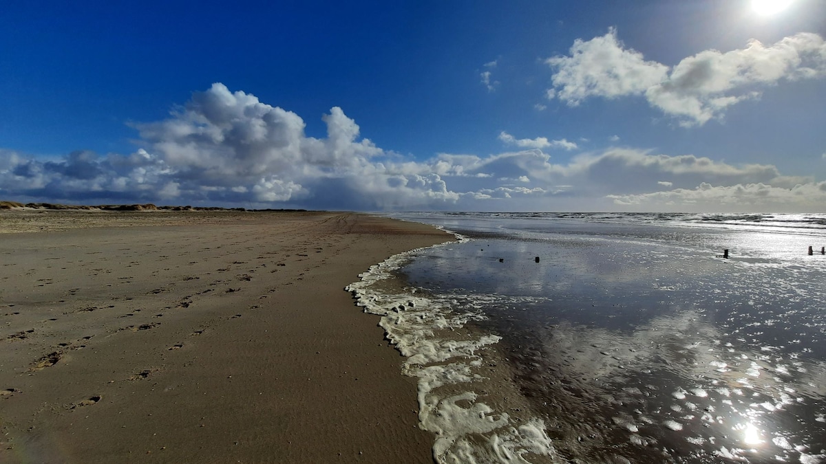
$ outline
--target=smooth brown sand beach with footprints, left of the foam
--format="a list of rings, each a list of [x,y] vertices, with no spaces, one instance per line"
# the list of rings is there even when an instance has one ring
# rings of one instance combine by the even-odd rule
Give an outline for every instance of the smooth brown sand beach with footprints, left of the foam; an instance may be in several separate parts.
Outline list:
[[[432,462],[367,215],[0,212],[0,462]]]

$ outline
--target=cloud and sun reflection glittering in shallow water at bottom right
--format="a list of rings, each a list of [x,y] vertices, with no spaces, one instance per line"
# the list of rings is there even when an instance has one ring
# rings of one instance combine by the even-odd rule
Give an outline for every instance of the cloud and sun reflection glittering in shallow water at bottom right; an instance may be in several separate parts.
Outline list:
[[[591,462],[610,462],[583,445],[607,448],[596,437],[605,431],[583,421],[610,422],[627,443],[662,452],[683,443],[686,452],[746,462],[813,459],[806,453],[823,445],[812,427],[823,410],[807,405],[822,407],[824,362],[774,347],[744,351],[723,343],[726,337],[695,311],[658,316],[632,333],[563,323],[544,333],[541,353],[520,364],[541,360],[543,372],[554,373],[540,378],[526,372],[523,380],[534,383],[529,388],[553,391],[548,396],[556,402],[546,402],[546,412],[558,418],[567,447]],[[588,433],[594,438],[583,439]]]

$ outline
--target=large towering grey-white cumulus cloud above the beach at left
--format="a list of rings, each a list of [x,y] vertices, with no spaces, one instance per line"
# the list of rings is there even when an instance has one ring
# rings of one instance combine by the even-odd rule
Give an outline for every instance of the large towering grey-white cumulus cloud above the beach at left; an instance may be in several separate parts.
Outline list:
[[[0,152],[0,193],[54,201],[162,201],[269,206],[273,202],[383,209],[456,201],[434,173],[375,162],[389,154],[360,139],[339,107],[322,117],[327,137],[304,133],[292,111],[230,92],[196,92],[164,121],[135,124],[133,154],[73,152],[40,161]]]

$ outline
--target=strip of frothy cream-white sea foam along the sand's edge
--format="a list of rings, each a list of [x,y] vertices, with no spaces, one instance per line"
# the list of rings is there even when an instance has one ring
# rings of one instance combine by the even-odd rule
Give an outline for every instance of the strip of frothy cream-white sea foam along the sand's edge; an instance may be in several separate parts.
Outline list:
[[[467,241],[456,235],[459,241]],[[364,312],[382,316],[379,325],[387,339],[407,358],[402,372],[418,379],[420,427],[436,435],[435,460],[556,461],[542,420],[516,419],[496,411],[480,401],[472,389],[486,380],[477,373],[482,366],[481,353],[500,340],[496,335],[463,330],[468,321],[484,316],[472,309],[456,310],[449,302],[416,295],[412,290],[388,290],[381,285],[420,251],[396,254],[372,266],[345,290],[353,294]]]

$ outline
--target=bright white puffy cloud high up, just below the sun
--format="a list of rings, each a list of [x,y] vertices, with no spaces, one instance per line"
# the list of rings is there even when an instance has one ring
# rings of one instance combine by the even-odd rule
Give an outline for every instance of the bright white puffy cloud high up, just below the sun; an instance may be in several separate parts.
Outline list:
[[[743,49],[704,50],[669,68],[626,48],[612,28],[605,36],[575,40],[570,55],[545,63],[555,69],[548,97],[576,107],[588,97],[644,96],[653,107],[690,126],[724,116],[732,105],[760,97],[766,86],[823,78],[826,43],[812,33],[768,46],[750,40]]]

